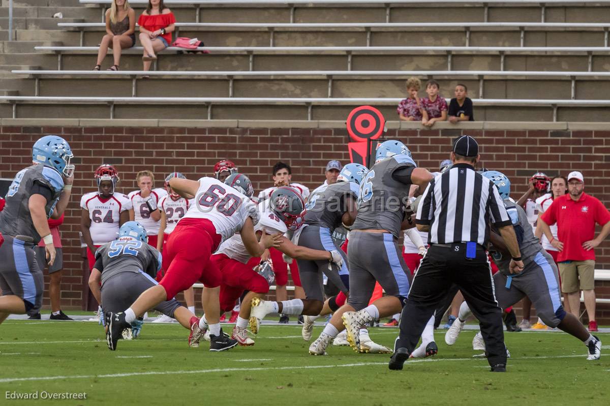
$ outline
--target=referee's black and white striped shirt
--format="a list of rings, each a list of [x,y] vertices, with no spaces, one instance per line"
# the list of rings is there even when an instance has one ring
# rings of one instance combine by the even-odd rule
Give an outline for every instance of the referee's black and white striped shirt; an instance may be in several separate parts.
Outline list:
[[[489,241],[489,223],[512,224],[493,182],[464,163],[431,180],[415,223],[430,226],[430,244],[476,241],[483,247]]]

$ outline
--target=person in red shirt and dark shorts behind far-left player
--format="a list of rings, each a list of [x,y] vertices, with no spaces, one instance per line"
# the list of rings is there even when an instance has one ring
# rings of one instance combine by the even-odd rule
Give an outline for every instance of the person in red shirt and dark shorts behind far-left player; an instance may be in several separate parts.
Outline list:
[[[53,236],[53,245],[55,246],[55,251],[57,252],[55,262],[53,265],[49,266],[49,277],[51,278],[49,281],[51,316],[49,316],[49,318],[51,320],[72,320],[65,313],[63,313],[61,309],[63,252],[62,240],[59,234],[59,226],[63,223],[63,215],[56,220],[49,218],[47,223],[49,223],[49,230],[51,230],[51,235]],[[35,252],[38,268],[40,268],[40,272],[43,272],[45,271],[46,265],[45,241],[40,240],[40,243],[38,243],[38,246],[35,248]],[[30,315],[30,319],[40,320],[40,311]]]

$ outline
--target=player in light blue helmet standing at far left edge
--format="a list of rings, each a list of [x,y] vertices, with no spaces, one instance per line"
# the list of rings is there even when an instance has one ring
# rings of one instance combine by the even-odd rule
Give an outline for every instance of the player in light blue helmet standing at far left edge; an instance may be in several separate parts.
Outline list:
[[[10,314],[40,310],[43,274],[34,247],[45,241],[45,258],[55,262],[56,249],[48,218],[58,219],[70,200],[74,181],[74,155],[61,137],[46,135],[34,143],[32,163],[22,169],[6,194],[0,212],[0,323]]]

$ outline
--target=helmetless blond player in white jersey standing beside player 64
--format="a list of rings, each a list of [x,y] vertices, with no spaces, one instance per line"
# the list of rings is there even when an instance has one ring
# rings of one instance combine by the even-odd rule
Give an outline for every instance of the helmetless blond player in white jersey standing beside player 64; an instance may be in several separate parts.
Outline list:
[[[157,248],[159,221],[161,219],[159,201],[167,192],[162,188],[152,188],[154,175],[151,171],[138,172],[135,176],[135,182],[137,182],[140,190],[134,190],[127,195],[131,200],[129,221],[137,221],[142,224],[148,232],[148,244],[152,248]]]

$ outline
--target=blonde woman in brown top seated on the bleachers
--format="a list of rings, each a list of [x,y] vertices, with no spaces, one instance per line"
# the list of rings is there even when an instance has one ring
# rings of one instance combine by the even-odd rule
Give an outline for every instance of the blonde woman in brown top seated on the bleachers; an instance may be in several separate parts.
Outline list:
[[[121,61],[121,49],[131,48],[135,45],[135,12],[129,7],[127,0],[113,0],[110,9],[106,10],[106,32],[99,44],[98,62],[94,71],[99,71],[102,61],[106,57],[108,47],[112,48],[114,65],[106,69],[118,71]]]

